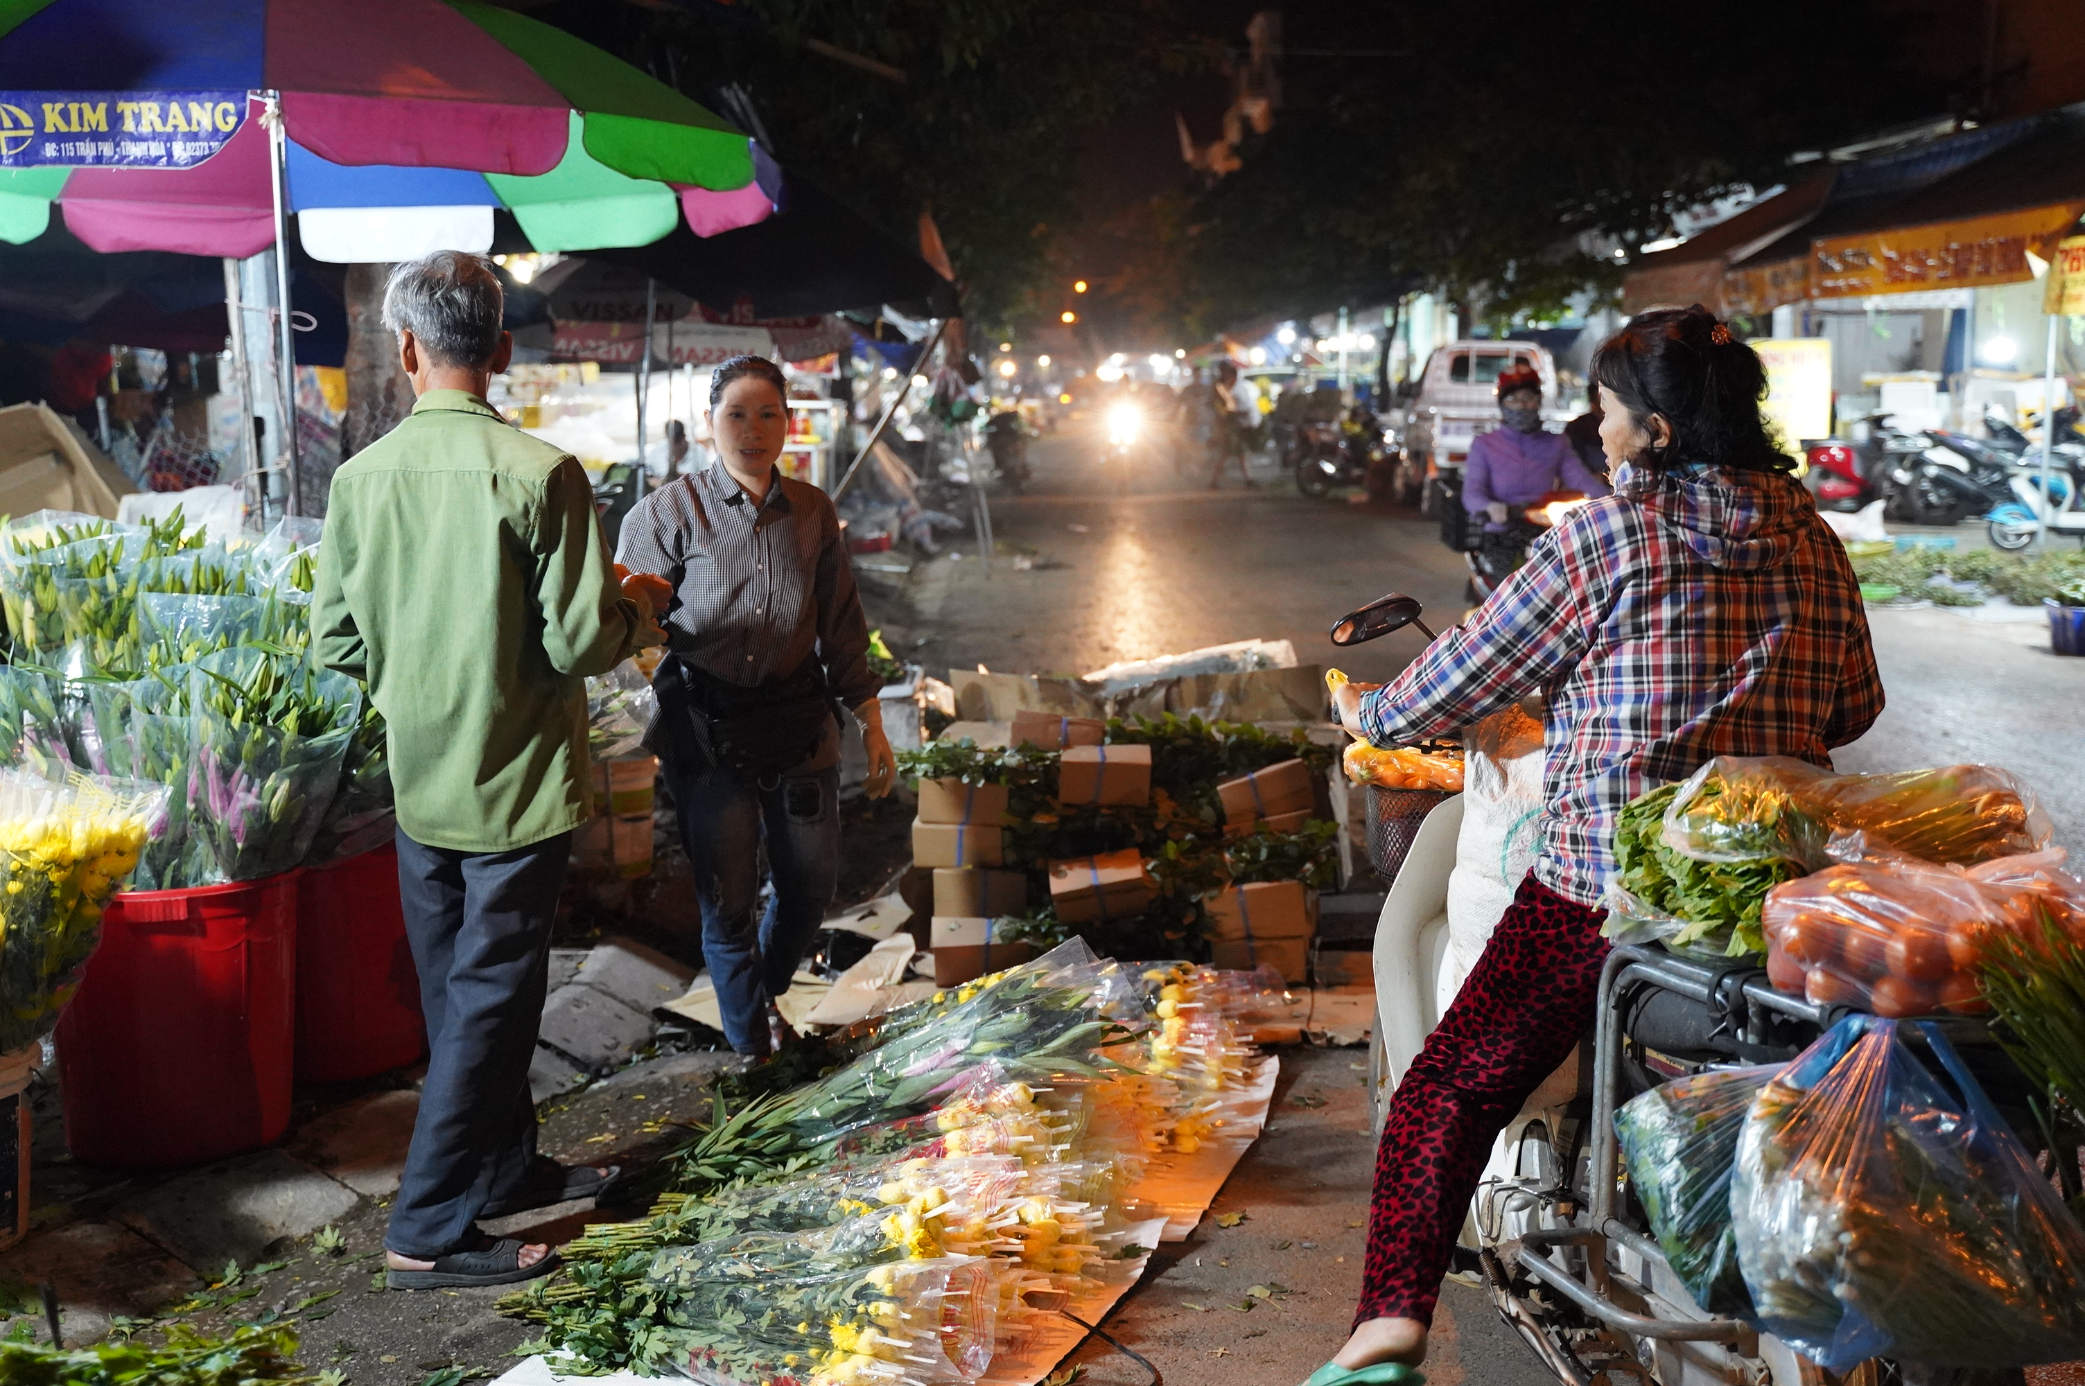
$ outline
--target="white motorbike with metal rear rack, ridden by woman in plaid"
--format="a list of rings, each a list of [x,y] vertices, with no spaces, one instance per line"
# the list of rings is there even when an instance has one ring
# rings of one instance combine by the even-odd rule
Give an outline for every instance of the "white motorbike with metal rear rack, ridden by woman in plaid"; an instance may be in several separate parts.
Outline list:
[[[1349,646],[1418,625],[1420,604],[1384,596],[1343,617]],[[1426,629],[1424,625],[1418,625]],[[1430,634],[1430,632],[1428,632]],[[1447,898],[1464,796],[1420,823],[1376,921],[1376,1132],[1439,1009]],[[1491,1292],[1564,1386],[1995,1386],[2020,1373],[1962,1373],[1868,1361],[1829,1376],[1779,1338],[1701,1311],[1666,1263],[1626,1186],[1614,1111],[1687,1071],[1791,1059],[1829,1017],[1766,982],[1662,948],[1620,946],[1601,973],[1595,1030],[1493,1146],[1457,1251],[1460,1278]]]

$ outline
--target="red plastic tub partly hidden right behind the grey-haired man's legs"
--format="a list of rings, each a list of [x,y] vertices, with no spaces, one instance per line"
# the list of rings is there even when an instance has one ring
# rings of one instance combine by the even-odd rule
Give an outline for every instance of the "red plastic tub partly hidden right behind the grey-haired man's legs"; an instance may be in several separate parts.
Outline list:
[[[419,973],[398,902],[398,848],[296,882],[296,1078],[338,1084],[427,1053]]]

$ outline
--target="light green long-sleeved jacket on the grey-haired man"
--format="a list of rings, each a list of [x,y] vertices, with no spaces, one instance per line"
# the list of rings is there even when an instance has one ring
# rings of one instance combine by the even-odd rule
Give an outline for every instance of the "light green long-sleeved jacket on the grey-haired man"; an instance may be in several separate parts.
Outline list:
[[[463,390],[334,473],[311,629],[390,727],[398,825],[505,852],[592,815],[588,673],[644,627],[580,463]]]

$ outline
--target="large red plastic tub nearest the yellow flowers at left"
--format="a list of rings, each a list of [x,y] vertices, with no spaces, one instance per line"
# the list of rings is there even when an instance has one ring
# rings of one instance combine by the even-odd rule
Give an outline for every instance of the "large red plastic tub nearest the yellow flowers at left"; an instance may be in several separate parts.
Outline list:
[[[175,1169],[290,1125],[296,877],[123,892],[58,1019],[75,1159]]]

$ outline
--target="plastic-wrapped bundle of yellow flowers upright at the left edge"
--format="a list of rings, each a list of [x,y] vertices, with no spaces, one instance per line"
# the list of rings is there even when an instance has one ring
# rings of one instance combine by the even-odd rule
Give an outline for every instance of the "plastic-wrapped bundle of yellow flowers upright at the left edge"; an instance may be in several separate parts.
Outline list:
[[[0,771],[0,1053],[44,1038],[100,942],[102,905],[165,825],[167,790]]]

